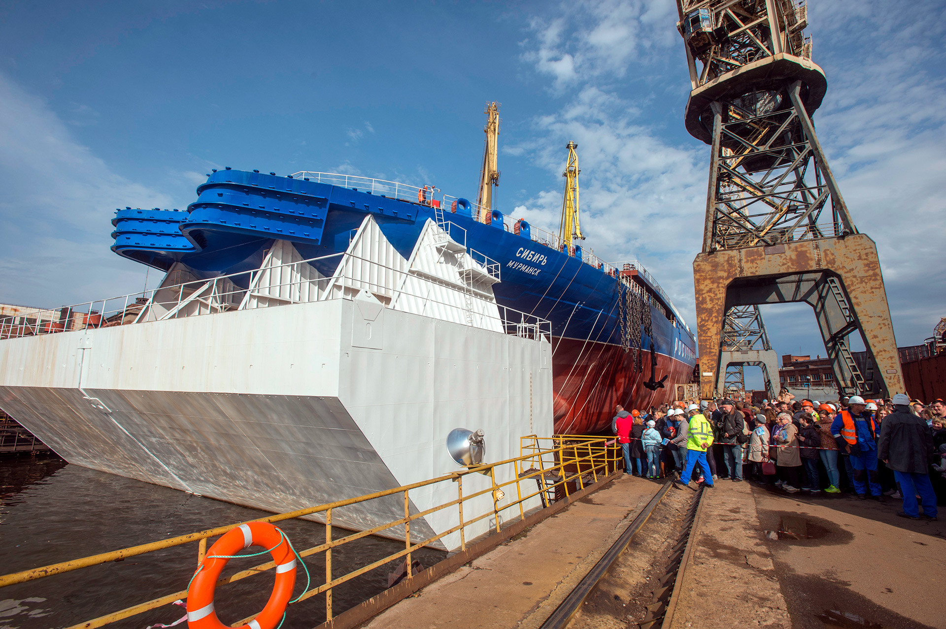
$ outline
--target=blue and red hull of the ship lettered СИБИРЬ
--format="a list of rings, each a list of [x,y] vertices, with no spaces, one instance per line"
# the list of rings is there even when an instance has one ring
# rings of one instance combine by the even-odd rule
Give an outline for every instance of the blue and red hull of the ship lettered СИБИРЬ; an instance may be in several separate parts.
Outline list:
[[[417,200],[403,198],[404,189],[417,190],[402,186],[395,195],[372,194],[307,178],[218,171],[198,187],[198,199],[187,212],[117,211],[112,249],[162,270],[182,262],[210,278],[257,268],[276,239],[292,242],[306,258],[341,253],[368,213],[407,258],[432,219],[455,240],[500,264],[501,281],[493,287],[500,305],[552,322],[556,431],[600,431],[616,403],[656,405],[674,399],[676,382],[691,382],[692,332],[642,269],[618,269],[596,259],[589,263],[580,249],[569,255],[536,242],[524,222],[511,226],[508,216],[492,212],[484,223],[464,199],[438,208],[447,203],[426,192]],[[331,275],[337,260],[319,270]],[[622,314],[632,285],[650,311],[650,325],[641,326],[639,344],[633,342],[643,351],[628,348],[627,315]],[[663,387],[645,386],[664,376]]]

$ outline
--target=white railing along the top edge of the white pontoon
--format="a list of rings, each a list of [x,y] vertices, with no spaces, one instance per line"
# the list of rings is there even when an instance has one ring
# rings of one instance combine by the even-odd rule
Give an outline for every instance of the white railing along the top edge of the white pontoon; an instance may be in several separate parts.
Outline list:
[[[346,272],[345,264],[338,265],[332,276],[310,278],[303,273],[304,265],[315,267],[319,262],[327,263],[332,259],[358,261],[358,269]],[[487,259],[488,260],[488,259]],[[332,263],[335,263],[332,261]],[[485,272],[499,273],[497,268],[487,266]],[[366,270],[367,266],[367,270]],[[356,272],[357,271],[357,272]],[[253,292],[260,276],[267,278],[286,277],[287,281],[266,283],[265,290]],[[411,276],[416,285],[428,286],[439,284],[457,291],[464,297],[472,296],[475,291],[470,287],[461,287],[449,282],[438,282],[427,276],[419,276],[404,269],[373,262],[351,254],[336,253],[320,258],[312,258],[295,263],[285,263],[243,271],[230,275],[218,276],[205,280],[192,280],[168,286],[159,286],[145,292],[132,293],[121,297],[111,297],[86,301],[84,303],[63,306],[57,309],[36,310],[0,318],[0,340],[35,336],[60,331],[77,331],[98,328],[110,328],[119,325],[131,325],[144,321],[181,318],[202,314],[219,314],[241,309],[250,297],[255,297],[253,308],[273,307],[311,301],[327,301],[350,297],[343,288],[359,290],[365,288],[376,294],[382,302],[392,297],[407,296],[421,300],[422,310],[436,307],[447,320],[465,322],[467,325],[501,329],[504,333],[526,338],[539,339],[552,334],[552,323],[534,314],[526,314],[492,301],[481,299],[460,299],[460,303],[447,303],[430,297],[437,291],[412,292],[407,282],[401,282],[405,276]],[[387,277],[387,281],[382,278]],[[495,277],[495,276],[494,276]],[[394,288],[392,288],[394,283]],[[246,286],[244,288],[243,286]],[[329,290],[330,287],[338,290]],[[421,295],[420,293],[424,293]],[[440,292],[442,294],[442,292]],[[483,304],[495,306],[499,317],[491,314]]]

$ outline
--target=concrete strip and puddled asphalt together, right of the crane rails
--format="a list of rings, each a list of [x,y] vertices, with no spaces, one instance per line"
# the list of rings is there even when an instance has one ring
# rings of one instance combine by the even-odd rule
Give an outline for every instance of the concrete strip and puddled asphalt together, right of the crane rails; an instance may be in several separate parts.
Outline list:
[[[674,629],[946,627],[943,522],[727,480],[704,501]]]

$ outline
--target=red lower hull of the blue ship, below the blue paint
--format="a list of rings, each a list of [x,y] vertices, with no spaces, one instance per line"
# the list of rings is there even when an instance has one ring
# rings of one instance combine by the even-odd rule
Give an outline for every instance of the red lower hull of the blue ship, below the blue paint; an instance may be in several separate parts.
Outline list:
[[[657,354],[657,375],[669,375],[663,388],[644,386],[651,378],[651,355],[640,357],[620,346],[569,338],[552,338],[552,388],[556,434],[591,434],[610,429],[615,406],[628,412],[674,401],[676,384],[692,380],[693,367]]]

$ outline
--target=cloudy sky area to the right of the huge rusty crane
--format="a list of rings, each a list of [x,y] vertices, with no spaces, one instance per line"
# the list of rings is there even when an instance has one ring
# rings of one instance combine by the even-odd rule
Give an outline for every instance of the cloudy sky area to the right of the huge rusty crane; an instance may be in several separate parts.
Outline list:
[[[899,345],[946,314],[946,10],[917,2],[816,3],[815,62],[829,79],[815,116],[854,223],[876,243]],[[813,317],[814,320],[814,317]]]

